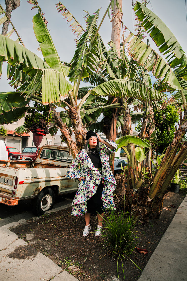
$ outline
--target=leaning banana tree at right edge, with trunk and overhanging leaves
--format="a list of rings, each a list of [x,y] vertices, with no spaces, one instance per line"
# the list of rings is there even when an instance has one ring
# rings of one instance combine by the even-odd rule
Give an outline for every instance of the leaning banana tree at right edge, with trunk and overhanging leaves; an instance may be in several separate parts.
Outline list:
[[[178,41],[165,24],[149,9],[139,2],[134,7],[135,14],[142,21],[145,31],[160,47],[160,52],[167,54],[164,61],[153,49],[132,33],[126,38],[128,52],[139,64],[144,65],[148,71],[158,79],[157,90],[169,90],[173,93],[184,108],[184,116],[174,135],[174,139],[168,146],[162,158],[159,169],[152,178],[151,183],[146,180],[140,182],[138,191],[133,198],[133,205],[138,204],[139,208],[147,209],[147,214],[155,212],[158,217],[163,204],[163,196],[173,176],[187,155],[187,142],[183,137],[187,128],[186,115],[186,55]],[[133,38],[132,38],[133,37]],[[175,70],[172,71],[172,68]],[[133,206],[131,205],[131,207]],[[138,213],[137,207],[132,207],[132,212]]]

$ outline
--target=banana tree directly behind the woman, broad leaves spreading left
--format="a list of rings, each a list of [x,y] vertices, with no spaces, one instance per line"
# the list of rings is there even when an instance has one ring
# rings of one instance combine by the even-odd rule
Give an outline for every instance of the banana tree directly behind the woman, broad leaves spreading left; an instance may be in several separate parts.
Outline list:
[[[2,46],[1,60],[8,61],[10,64],[8,66],[8,77],[11,78],[10,84],[17,89],[18,95],[43,105],[57,103],[57,105],[66,106],[66,108],[64,107],[65,113],[68,113],[70,118],[71,132],[75,133],[76,143],[71,139],[70,130],[66,123],[62,121],[60,115],[57,114],[54,106],[50,106],[50,108],[53,111],[57,128],[61,130],[63,138],[75,157],[78,149],[82,148],[86,139],[86,128],[81,117],[86,116],[87,119],[91,119],[89,115],[92,115],[92,119],[93,117],[95,119],[98,117],[98,113],[94,114],[98,108],[97,110],[91,108],[86,113],[82,109],[82,114],[80,114],[83,103],[89,94],[84,96],[78,105],[77,96],[81,79],[88,76],[88,73],[96,71],[98,66],[105,60],[102,53],[97,56],[100,47],[100,42],[97,40],[98,30],[96,26],[99,10],[96,11],[94,16],[87,15],[86,31],[84,31],[77,44],[77,50],[69,67],[59,59],[37,1],[29,1],[29,3],[35,4],[34,8],[39,10],[38,14],[33,17],[33,28],[36,38],[40,42],[45,62],[29,50],[3,36],[0,39]],[[70,74],[70,81],[73,81],[73,86],[65,78],[68,74]],[[98,112],[100,114],[101,110],[99,109]]]

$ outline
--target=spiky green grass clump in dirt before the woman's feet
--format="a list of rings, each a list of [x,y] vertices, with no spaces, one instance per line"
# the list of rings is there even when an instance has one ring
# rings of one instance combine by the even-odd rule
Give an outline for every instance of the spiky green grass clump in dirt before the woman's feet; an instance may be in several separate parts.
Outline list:
[[[118,278],[119,268],[122,265],[124,280],[123,261],[130,260],[133,262],[129,256],[138,242],[137,238],[139,238],[134,230],[136,225],[137,220],[134,220],[130,214],[124,214],[123,212],[119,214],[112,209],[106,215],[106,219],[103,219],[103,248],[108,255],[117,260]]]

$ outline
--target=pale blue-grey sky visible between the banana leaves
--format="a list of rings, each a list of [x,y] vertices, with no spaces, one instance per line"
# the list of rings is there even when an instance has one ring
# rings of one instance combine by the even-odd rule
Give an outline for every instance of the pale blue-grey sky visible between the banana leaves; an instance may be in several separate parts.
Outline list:
[[[57,49],[59,57],[61,60],[70,62],[73,58],[75,46],[75,35],[70,31],[69,25],[65,22],[60,13],[57,13],[56,3],[57,0],[38,0],[38,4],[41,7],[43,13],[45,13],[45,18],[48,21],[48,29],[54,45]],[[105,13],[109,0],[64,0],[61,1],[64,6],[75,16],[75,18],[80,22],[80,24],[85,28],[86,24],[83,19],[83,15],[86,15],[84,10],[88,11],[91,15],[98,9],[100,9],[99,19],[100,22],[103,14]],[[133,31],[133,17],[135,24],[135,15],[133,16],[133,10],[131,6],[131,0],[123,0],[122,12],[123,12],[123,22],[127,28]],[[5,10],[4,0],[0,0],[1,6]],[[134,1],[135,4],[135,1]],[[29,4],[27,0],[20,1],[20,7],[12,12],[11,21],[13,22],[16,30],[18,31],[24,45],[27,49],[34,52],[36,55],[42,58],[41,52],[37,50],[39,43],[36,40],[33,31],[32,18],[38,13],[37,9],[32,8],[32,4]],[[187,20],[186,20],[186,3],[185,0],[151,0],[148,3],[147,8],[153,11],[160,19],[168,26],[168,28],[175,35],[179,43],[181,44],[183,50],[187,53]],[[2,25],[1,25],[2,29]],[[1,32],[0,29],[0,32]],[[101,38],[103,39],[105,45],[111,39],[111,29],[112,23],[108,15],[99,31]],[[149,37],[147,37],[149,38]],[[145,42],[147,40],[145,38]],[[11,37],[14,39],[14,37]],[[149,40],[150,46],[155,49],[155,44],[153,41]],[[13,90],[6,78],[6,64],[3,64],[3,75],[0,80],[0,91],[10,91]]]

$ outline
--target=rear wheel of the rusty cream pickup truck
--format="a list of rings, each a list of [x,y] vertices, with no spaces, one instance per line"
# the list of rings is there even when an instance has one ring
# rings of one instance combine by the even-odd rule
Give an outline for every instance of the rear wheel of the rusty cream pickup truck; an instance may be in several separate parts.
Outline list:
[[[37,216],[43,215],[46,211],[51,210],[55,201],[54,191],[47,187],[40,191],[33,200],[33,213]]]

